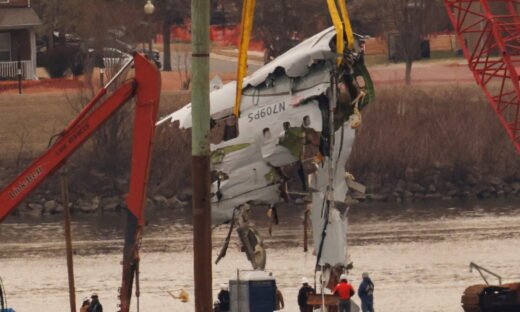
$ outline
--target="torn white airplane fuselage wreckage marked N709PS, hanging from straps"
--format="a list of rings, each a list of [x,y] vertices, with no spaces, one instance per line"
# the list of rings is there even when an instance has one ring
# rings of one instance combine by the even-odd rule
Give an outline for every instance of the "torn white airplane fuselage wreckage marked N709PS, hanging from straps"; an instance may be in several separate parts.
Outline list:
[[[348,266],[347,212],[336,203],[345,201],[345,163],[360,111],[374,93],[359,45],[345,49],[338,66],[335,39],[335,29],[326,29],[246,77],[239,118],[233,114],[236,82],[210,94],[213,222],[236,224],[254,269],[264,269],[266,257],[248,204],[267,204],[272,213],[289,201],[288,166],[298,168],[312,198],[317,270],[336,275]],[[191,127],[190,104],[158,125],[176,121]]]

